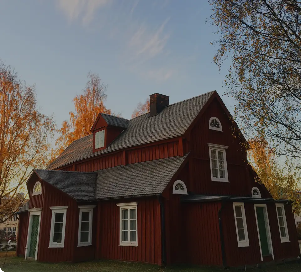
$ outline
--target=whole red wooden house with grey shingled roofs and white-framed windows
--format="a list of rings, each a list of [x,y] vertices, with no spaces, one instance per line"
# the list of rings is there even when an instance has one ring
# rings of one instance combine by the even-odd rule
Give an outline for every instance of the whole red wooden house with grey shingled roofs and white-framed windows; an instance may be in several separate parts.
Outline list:
[[[172,105],[156,93],[131,120],[100,113],[27,181],[17,254],[224,267],[297,258],[291,203],[255,182],[229,117],[217,92]]]

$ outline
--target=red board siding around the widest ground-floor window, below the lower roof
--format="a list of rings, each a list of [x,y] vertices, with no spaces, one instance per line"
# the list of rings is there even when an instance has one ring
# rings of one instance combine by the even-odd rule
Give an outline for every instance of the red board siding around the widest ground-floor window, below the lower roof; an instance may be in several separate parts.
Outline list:
[[[119,207],[116,203],[138,202],[138,246],[119,246]],[[148,262],[161,265],[160,204],[156,198],[99,202],[99,258]]]

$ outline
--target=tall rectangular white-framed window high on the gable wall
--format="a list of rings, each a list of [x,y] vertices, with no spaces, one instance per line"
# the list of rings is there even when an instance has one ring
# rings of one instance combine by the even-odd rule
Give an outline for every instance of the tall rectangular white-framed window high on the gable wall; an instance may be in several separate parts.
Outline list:
[[[219,144],[208,144],[211,180],[228,182],[228,170],[226,160],[226,149],[228,146]]]

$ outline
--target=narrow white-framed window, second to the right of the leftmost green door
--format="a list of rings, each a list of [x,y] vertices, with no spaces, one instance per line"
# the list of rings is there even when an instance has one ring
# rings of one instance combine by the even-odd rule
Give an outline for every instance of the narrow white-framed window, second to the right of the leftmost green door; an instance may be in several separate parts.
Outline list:
[[[77,246],[92,245],[92,221],[93,208],[95,205],[78,206],[79,207],[79,222],[78,222],[78,240]]]

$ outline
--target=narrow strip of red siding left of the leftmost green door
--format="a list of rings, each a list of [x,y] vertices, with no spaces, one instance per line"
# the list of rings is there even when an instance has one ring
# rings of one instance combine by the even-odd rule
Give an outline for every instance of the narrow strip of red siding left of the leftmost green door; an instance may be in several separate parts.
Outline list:
[[[18,237],[17,237],[17,252],[16,252],[17,256],[25,255],[29,212],[19,213],[18,217],[19,217],[19,222],[18,222]]]

